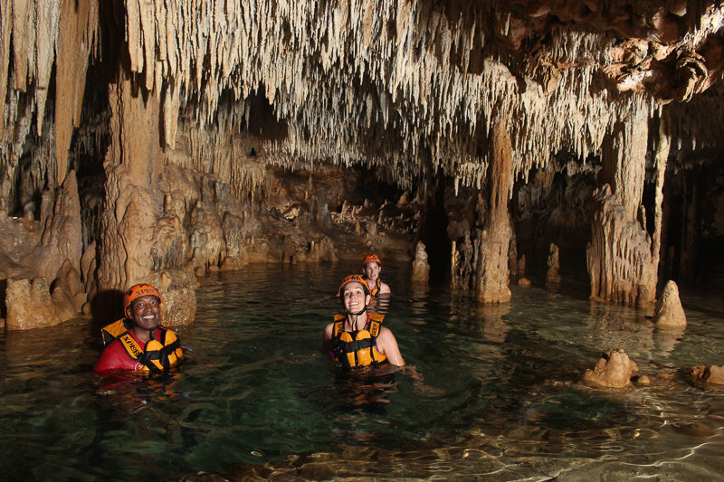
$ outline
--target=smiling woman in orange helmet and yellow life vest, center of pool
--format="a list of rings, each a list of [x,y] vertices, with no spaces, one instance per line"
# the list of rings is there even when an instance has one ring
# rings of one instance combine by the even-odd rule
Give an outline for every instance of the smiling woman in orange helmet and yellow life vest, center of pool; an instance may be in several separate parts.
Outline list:
[[[367,281],[359,275],[342,279],[338,289],[344,313],[324,328],[322,352],[329,353],[346,368],[389,362],[405,364],[392,331],[382,326],[382,314],[367,312],[371,295]]]

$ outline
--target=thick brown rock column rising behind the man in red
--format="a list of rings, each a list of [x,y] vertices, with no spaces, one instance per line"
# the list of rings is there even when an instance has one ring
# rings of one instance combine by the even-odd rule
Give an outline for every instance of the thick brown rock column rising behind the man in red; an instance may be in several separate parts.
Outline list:
[[[135,283],[151,283],[163,297],[164,323],[188,323],[195,313],[193,270],[182,266],[184,260],[172,253],[157,257],[176,259],[177,266],[155,266],[151,256],[157,250],[165,199],[157,97],[123,77],[111,86],[110,106],[112,141],[104,164],[107,178],[99,292],[123,291]],[[110,309],[115,316],[121,313],[118,306]]]

